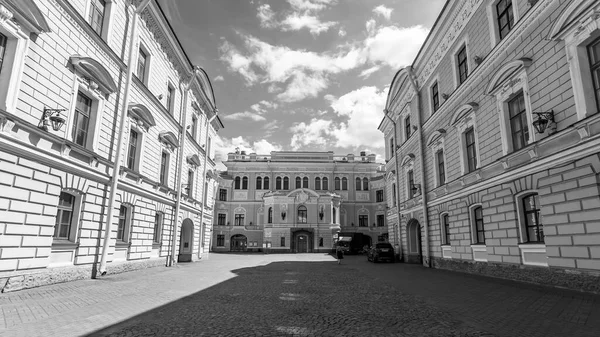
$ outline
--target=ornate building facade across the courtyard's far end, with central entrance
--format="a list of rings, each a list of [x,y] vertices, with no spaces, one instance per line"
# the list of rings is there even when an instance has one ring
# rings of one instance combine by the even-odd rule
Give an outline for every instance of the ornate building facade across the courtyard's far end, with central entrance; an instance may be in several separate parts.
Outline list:
[[[387,240],[375,155],[230,153],[219,180],[212,250],[329,252],[338,233]]]

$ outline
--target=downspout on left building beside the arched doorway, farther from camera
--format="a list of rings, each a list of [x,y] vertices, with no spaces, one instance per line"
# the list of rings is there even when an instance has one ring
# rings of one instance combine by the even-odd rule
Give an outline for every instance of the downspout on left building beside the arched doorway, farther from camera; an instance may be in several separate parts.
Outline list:
[[[181,210],[181,180],[183,176],[183,157],[185,152],[185,138],[186,138],[186,127],[187,127],[187,114],[185,110],[187,108],[187,101],[189,95],[190,84],[194,80],[194,75],[196,74],[196,69],[192,71],[192,76],[187,82],[181,82],[179,85],[181,87],[181,91],[183,92],[183,103],[179,109],[179,120],[181,121],[181,131],[179,133],[179,158],[177,158],[177,168],[175,169],[178,172],[177,182],[175,183],[175,187],[177,188],[177,196],[175,198],[175,214],[173,219],[173,235],[171,236],[171,258],[169,259],[169,267],[174,267],[177,264],[177,260],[175,256],[177,256],[177,229],[179,227],[179,211]],[[189,188],[189,186],[188,186]]]

